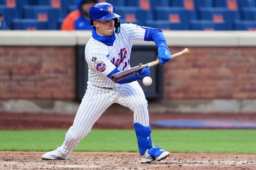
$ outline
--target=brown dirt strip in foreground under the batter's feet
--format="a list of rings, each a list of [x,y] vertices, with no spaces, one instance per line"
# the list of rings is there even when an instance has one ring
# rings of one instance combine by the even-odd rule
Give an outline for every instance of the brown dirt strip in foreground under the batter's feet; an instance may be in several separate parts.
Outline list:
[[[150,164],[133,152],[73,152],[68,160],[45,161],[43,152],[0,152],[0,169],[256,169],[256,155],[172,153]]]

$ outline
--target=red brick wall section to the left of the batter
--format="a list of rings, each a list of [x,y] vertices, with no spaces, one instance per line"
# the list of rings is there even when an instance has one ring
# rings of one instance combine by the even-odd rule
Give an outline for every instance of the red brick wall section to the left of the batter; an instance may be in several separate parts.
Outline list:
[[[75,47],[0,47],[1,99],[75,98]]]

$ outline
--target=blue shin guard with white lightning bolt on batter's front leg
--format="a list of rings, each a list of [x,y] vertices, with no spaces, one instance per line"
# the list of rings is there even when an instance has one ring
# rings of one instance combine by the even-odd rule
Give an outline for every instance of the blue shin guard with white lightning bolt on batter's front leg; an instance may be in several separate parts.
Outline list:
[[[134,129],[137,136],[140,155],[144,155],[149,147],[152,146],[150,126],[143,126],[140,123],[134,123]]]

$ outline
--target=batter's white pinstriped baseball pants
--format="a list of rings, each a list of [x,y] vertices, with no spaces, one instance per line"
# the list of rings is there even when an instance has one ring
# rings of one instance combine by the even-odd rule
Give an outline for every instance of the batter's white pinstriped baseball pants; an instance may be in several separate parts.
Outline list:
[[[113,103],[130,108],[134,112],[134,123],[149,125],[148,101],[137,81],[118,85],[111,92],[100,92],[98,89],[88,88],[76,113],[76,117],[66,133],[60,151],[69,156],[81,139],[91,131],[93,124],[102,113]]]

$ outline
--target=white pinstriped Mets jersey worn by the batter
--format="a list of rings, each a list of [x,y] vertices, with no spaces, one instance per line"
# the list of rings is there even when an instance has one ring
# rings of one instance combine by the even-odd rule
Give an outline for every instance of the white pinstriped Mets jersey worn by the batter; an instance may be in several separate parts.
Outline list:
[[[145,29],[134,24],[121,24],[120,33],[116,34],[113,46],[107,46],[101,41],[90,38],[85,46],[85,60],[88,63],[88,86],[99,88],[113,88],[118,84],[107,75],[115,68],[126,70],[130,68],[130,54],[132,44],[143,41]]]

